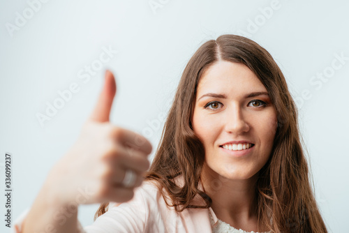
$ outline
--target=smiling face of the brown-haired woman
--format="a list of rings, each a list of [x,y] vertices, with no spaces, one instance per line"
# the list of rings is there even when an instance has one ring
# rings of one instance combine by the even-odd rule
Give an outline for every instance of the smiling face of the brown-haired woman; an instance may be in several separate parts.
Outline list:
[[[218,61],[198,84],[192,123],[205,147],[204,172],[248,179],[267,163],[277,117],[267,89],[247,66]]]

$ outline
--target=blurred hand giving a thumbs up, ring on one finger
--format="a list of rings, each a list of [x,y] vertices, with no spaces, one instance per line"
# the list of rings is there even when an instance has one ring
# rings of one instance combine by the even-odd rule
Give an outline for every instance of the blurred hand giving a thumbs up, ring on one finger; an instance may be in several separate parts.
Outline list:
[[[126,202],[142,183],[149,168],[149,141],[109,122],[117,87],[114,75],[105,73],[105,84],[96,107],[82,126],[80,136],[52,167],[45,186],[62,203]]]

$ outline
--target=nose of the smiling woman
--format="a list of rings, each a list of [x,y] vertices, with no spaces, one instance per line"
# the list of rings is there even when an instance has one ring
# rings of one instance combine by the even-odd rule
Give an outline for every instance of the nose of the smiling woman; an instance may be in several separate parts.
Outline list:
[[[250,130],[250,126],[246,121],[246,116],[244,116],[244,112],[242,112],[239,106],[230,107],[230,110],[226,112],[225,130],[228,133],[240,135]]]

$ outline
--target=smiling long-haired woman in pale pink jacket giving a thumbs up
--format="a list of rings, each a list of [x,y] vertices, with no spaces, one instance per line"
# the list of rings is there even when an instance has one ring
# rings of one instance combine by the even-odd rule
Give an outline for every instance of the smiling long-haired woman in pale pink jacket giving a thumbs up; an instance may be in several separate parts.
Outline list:
[[[50,172],[22,232],[76,232],[76,206],[96,202],[104,203],[87,232],[327,232],[295,103],[260,45],[223,35],[195,52],[144,183],[151,145],[107,122],[114,87],[107,73],[82,136]]]

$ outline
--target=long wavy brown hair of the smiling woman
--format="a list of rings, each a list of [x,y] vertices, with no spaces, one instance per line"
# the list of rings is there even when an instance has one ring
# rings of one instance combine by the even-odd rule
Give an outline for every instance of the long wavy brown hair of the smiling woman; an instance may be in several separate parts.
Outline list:
[[[250,68],[264,84],[277,112],[272,152],[258,172],[255,187],[259,223],[272,232],[327,232],[311,188],[297,108],[285,77],[267,50],[242,36],[223,35],[209,40],[188,61],[145,179],[156,181],[166,204],[176,211],[211,206],[211,198],[200,189],[205,150],[191,121],[202,74],[222,60]],[[174,179],[179,175],[183,181],[180,185]],[[191,204],[195,196],[202,197],[202,205]],[[101,204],[95,218],[107,211],[107,205]]]

